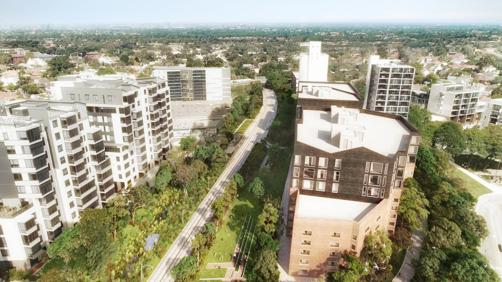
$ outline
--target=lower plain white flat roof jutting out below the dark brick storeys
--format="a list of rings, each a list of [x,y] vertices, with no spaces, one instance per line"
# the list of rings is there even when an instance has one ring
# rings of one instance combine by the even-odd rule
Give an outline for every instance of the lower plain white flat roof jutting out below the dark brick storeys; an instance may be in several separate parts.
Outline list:
[[[361,220],[378,204],[325,197],[298,197],[297,217]]]

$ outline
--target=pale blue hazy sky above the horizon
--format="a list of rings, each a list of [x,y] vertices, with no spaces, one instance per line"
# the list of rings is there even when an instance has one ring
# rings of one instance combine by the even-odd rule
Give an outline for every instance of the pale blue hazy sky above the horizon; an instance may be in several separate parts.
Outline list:
[[[502,25],[501,0],[2,1],[0,26],[170,23]]]

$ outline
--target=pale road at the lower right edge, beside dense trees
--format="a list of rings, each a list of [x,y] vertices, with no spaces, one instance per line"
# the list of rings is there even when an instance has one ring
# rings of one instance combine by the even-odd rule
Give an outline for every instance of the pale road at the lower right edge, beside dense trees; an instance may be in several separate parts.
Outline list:
[[[490,266],[502,276],[502,252],[499,244],[502,243],[502,192],[493,192],[478,198],[476,212],[486,219],[490,234],[481,242],[479,252],[484,254]]]

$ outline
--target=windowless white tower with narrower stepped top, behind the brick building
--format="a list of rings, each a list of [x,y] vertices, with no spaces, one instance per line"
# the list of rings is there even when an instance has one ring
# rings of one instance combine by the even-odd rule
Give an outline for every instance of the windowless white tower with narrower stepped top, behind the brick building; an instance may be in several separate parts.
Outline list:
[[[308,53],[300,54],[300,81],[328,81],[328,54],[321,53],[321,42],[302,43],[309,46]]]

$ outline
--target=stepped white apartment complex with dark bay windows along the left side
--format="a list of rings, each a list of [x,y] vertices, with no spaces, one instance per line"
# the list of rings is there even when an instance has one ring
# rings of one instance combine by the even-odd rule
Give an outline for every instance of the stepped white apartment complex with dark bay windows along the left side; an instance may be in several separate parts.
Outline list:
[[[61,93],[0,107],[0,270],[33,267],[84,209],[103,207],[170,150],[165,81],[90,79]]]

